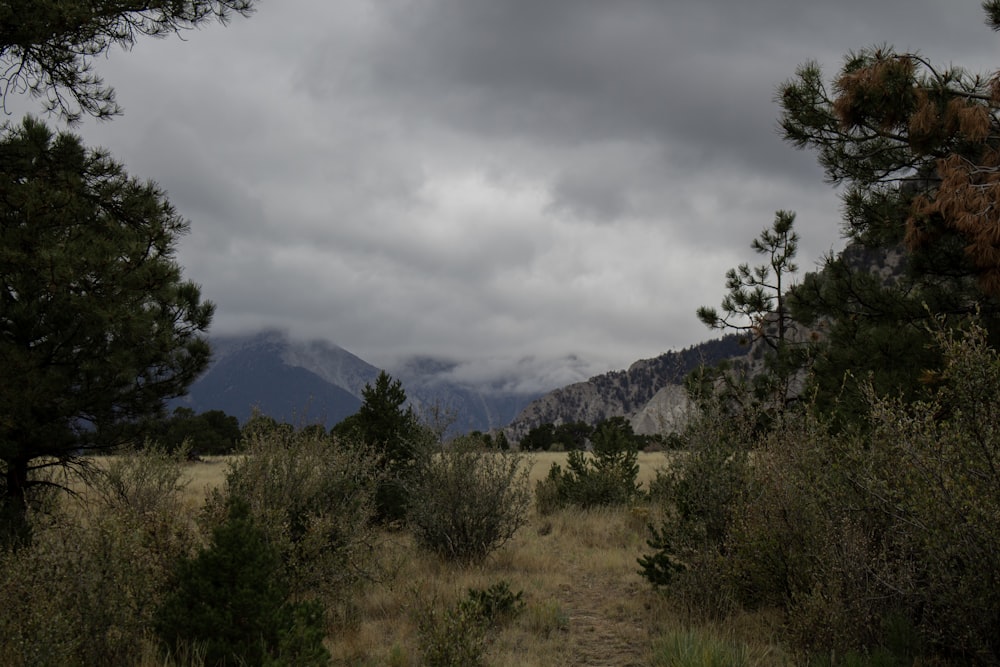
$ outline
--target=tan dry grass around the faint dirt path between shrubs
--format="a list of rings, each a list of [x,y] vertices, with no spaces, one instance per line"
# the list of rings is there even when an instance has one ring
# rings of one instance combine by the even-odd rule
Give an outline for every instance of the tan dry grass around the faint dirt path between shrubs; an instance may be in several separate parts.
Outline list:
[[[642,454],[640,480],[653,478],[666,454]],[[564,453],[532,455],[532,488]],[[220,485],[226,460],[187,467],[194,509],[207,489]],[[661,665],[654,647],[664,637],[686,636],[689,621],[671,610],[639,576],[636,558],[645,548],[644,507],[532,513],[515,538],[484,563],[461,567],[417,549],[405,531],[380,534],[382,576],[340,605],[327,646],[337,665],[418,665],[417,618],[444,610],[467,594],[507,582],[523,591],[525,607],[489,638],[487,664],[496,667],[557,665]],[[784,664],[769,644],[759,617],[731,621],[726,628],[703,624],[708,633],[746,648],[744,664]],[[716,664],[716,663],[713,663]]]

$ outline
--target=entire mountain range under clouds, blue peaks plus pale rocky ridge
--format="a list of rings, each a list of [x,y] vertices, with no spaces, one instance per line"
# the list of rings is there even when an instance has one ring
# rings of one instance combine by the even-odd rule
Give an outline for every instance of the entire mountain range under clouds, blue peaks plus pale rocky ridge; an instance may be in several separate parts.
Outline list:
[[[211,345],[208,370],[174,406],[222,410],[241,422],[257,409],[292,424],[330,427],[358,410],[362,390],[381,370],[333,343],[295,340],[280,330],[213,337]],[[438,408],[453,420],[453,433],[502,428],[516,442],[541,423],[593,424],[612,416],[628,417],[640,433],[669,430],[686,406],[684,376],[699,363],[745,353],[729,336],[544,394],[456,382],[449,375],[454,364],[431,357],[385,370],[402,382],[418,414]]]

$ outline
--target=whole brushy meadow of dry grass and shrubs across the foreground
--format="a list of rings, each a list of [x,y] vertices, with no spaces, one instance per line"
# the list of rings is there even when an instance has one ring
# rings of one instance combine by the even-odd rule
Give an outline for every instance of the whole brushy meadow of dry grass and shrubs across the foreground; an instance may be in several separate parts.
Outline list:
[[[983,573],[1000,571],[1000,360],[945,343],[947,402],[872,398],[858,433],[709,409],[683,453],[452,443],[393,477],[363,445],[265,424],[239,456],[95,459],[76,493],[39,497],[27,546],[0,551],[0,664],[220,664],[205,656],[245,630],[224,614],[247,591],[236,618],[280,634],[239,636],[268,664],[998,664]],[[397,490],[405,523],[376,514]],[[517,529],[494,540],[498,519]],[[203,608],[223,615],[174,630]]]

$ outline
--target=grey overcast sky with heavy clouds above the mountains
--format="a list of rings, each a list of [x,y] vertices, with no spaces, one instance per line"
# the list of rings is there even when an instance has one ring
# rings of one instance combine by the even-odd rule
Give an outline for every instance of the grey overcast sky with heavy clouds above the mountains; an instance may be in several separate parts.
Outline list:
[[[776,129],[799,64],[832,76],[889,43],[985,72],[983,18],[977,0],[262,0],[98,60],[125,115],[76,131],[191,220],[180,260],[213,333],[551,388],[716,336],[695,309],[777,209],[803,270],[842,247],[836,192]]]

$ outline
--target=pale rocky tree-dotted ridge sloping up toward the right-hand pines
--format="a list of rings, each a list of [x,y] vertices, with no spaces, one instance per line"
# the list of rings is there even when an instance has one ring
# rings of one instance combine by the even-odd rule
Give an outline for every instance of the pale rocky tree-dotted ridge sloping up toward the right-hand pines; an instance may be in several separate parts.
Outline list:
[[[595,424],[624,416],[637,433],[668,433],[678,427],[687,411],[684,377],[700,364],[714,365],[746,352],[738,337],[726,336],[643,359],[627,370],[597,375],[545,394],[528,404],[504,430],[508,439],[518,442],[539,424]]]

